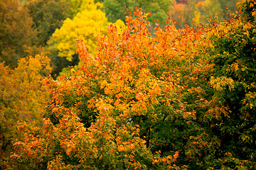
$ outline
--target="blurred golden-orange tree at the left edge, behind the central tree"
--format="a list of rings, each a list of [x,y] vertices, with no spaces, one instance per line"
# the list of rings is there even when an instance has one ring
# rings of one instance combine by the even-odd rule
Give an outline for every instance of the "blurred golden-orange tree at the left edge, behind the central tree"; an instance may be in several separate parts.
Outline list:
[[[16,130],[17,121],[40,127],[40,113],[47,99],[42,81],[50,74],[49,62],[48,57],[36,55],[19,59],[16,69],[0,64],[1,167],[9,160],[13,149],[11,142],[23,136]]]

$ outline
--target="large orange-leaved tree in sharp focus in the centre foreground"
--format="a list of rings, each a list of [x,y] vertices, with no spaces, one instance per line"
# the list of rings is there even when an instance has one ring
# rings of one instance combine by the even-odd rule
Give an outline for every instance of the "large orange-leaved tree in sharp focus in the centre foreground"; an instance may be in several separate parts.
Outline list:
[[[36,140],[38,132],[21,123],[20,129],[30,136],[15,144],[16,166],[178,169],[194,166],[202,153],[215,151],[218,139],[201,128],[203,120],[193,121],[196,111],[191,108],[195,101],[207,105],[201,100],[203,89],[196,85],[206,86],[213,67],[201,57],[203,45],[208,46],[203,28],[166,26],[156,28],[156,38],[151,38],[147,14],[139,10],[134,15],[138,17],[127,16],[122,33],[110,26],[108,35],[98,38],[96,57],[79,41],[78,71],[58,81],[48,79],[47,131]],[[188,94],[195,96],[193,102],[184,97]],[[207,143],[211,147],[205,147]]]

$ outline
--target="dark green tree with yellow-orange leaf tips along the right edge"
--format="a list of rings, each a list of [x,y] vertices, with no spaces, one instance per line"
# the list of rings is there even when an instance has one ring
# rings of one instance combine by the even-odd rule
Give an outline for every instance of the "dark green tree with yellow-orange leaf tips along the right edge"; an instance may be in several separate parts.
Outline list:
[[[219,138],[226,144],[219,154],[228,159],[223,167],[256,167],[255,6],[255,1],[242,1],[241,16],[221,24],[212,35],[216,72],[210,82],[215,100],[226,108],[218,123]]]

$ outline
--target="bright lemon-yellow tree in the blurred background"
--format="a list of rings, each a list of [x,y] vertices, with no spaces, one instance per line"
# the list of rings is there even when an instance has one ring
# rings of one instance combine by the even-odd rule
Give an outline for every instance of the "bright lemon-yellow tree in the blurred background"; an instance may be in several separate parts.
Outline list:
[[[65,57],[68,61],[73,60],[75,55],[75,40],[85,40],[90,52],[96,52],[97,35],[105,33],[107,22],[105,13],[100,10],[102,4],[94,0],[72,1],[73,7],[78,12],[73,19],[67,18],[60,29],[56,29],[52,38],[48,41],[51,50],[58,52],[58,57]],[[73,12],[75,12],[73,10]],[[117,21],[117,27],[123,27],[122,21]]]

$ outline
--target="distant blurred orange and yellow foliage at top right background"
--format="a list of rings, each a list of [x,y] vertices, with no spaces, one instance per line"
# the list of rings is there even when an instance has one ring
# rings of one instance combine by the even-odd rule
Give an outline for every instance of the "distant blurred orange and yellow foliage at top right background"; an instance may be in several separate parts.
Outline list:
[[[194,23],[204,26],[208,24],[208,19],[212,23],[220,23],[223,19],[228,20],[230,13],[235,12],[237,2],[238,0],[176,1],[170,6],[171,18],[177,22],[177,28],[182,28],[184,24],[194,27]]]

